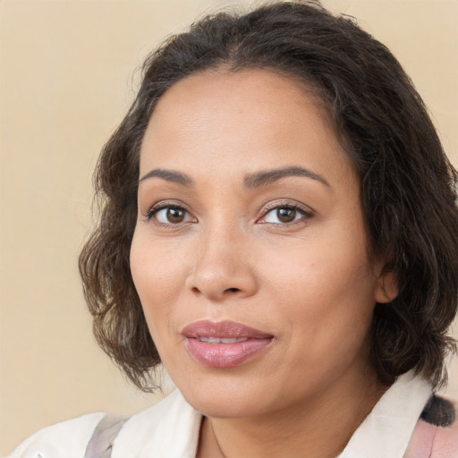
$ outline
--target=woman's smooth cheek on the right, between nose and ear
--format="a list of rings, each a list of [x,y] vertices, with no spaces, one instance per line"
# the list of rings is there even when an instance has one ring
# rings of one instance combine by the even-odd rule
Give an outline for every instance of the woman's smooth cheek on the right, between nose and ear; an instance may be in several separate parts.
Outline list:
[[[267,251],[264,260],[268,297],[280,305],[294,348],[312,364],[324,354],[352,358],[360,351],[376,284],[364,244],[345,244],[338,237],[309,240],[288,250],[287,257]]]

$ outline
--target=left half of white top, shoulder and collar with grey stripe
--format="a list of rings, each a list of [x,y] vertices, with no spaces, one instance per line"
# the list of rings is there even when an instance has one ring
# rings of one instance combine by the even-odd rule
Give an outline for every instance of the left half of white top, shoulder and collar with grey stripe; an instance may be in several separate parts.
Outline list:
[[[67,420],[26,439],[8,458],[99,457],[110,450],[113,458],[127,456],[194,457],[202,416],[178,390],[128,420],[113,421],[105,413]]]

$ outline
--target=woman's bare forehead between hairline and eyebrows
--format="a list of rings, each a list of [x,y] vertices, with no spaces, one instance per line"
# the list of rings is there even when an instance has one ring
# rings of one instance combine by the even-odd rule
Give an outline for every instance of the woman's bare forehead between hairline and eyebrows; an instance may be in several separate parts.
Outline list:
[[[256,69],[199,73],[168,89],[148,123],[140,174],[161,166],[228,172],[240,165],[250,173],[296,164],[327,169],[336,162],[351,166],[318,96]]]

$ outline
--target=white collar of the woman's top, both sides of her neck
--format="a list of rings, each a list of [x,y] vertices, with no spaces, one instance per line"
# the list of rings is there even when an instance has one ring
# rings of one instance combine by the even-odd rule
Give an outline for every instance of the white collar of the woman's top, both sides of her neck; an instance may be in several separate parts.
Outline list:
[[[421,378],[399,377],[380,398],[337,458],[402,458],[431,395]],[[113,458],[195,458],[202,416],[175,389],[131,417],[114,440]]]

